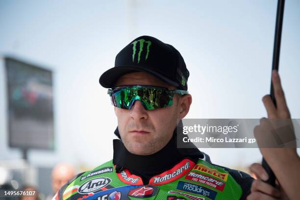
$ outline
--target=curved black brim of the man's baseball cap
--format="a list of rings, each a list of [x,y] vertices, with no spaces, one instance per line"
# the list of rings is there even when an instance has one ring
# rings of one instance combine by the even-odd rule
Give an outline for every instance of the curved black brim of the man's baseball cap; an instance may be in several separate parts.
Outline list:
[[[116,86],[115,83],[119,79],[120,76],[128,74],[128,73],[132,73],[132,72],[147,72],[150,75],[153,75],[174,87],[179,86],[178,83],[176,83],[175,81],[171,80],[170,78],[168,78],[164,75],[161,75],[153,70],[145,69],[145,68],[137,67],[137,66],[119,66],[119,67],[111,68],[111,69],[107,70],[106,72],[104,72],[100,76],[99,83],[104,88],[113,88]]]

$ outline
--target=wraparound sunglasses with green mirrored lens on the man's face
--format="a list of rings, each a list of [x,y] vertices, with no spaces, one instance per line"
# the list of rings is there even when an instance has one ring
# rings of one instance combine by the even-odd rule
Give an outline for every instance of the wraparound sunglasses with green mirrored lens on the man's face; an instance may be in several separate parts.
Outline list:
[[[175,94],[185,95],[188,91],[152,85],[125,85],[108,89],[107,94],[115,107],[130,110],[134,101],[140,100],[146,110],[154,110],[171,106]]]

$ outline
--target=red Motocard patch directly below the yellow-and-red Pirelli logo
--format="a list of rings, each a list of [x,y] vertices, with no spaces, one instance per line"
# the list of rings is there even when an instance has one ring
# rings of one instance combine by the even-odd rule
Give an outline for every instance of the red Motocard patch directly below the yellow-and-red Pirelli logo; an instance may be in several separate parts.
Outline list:
[[[216,180],[208,175],[201,175],[195,172],[190,172],[185,176],[185,179],[203,183],[220,191],[223,191],[225,187],[225,183],[221,180]]]

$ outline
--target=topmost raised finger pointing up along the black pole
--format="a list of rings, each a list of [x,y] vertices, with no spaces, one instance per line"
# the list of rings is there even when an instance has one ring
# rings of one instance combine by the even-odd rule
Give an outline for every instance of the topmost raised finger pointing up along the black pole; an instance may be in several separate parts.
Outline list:
[[[288,107],[287,107],[287,104],[285,101],[280,77],[276,70],[273,70],[273,72],[272,72],[272,81],[273,81],[273,86],[274,86],[274,95],[275,95],[276,106],[277,106],[278,112],[280,112],[281,114],[284,112],[288,112]]]

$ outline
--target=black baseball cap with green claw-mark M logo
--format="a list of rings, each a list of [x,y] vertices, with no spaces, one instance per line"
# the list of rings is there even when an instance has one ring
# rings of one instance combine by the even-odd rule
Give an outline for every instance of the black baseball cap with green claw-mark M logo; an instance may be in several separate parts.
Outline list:
[[[115,67],[100,76],[100,85],[113,88],[120,76],[132,72],[147,72],[177,89],[187,90],[189,71],[183,57],[172,45],[151,36],[138,37],[121,50]]]

